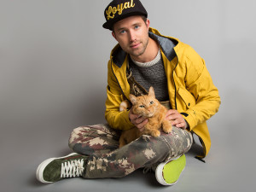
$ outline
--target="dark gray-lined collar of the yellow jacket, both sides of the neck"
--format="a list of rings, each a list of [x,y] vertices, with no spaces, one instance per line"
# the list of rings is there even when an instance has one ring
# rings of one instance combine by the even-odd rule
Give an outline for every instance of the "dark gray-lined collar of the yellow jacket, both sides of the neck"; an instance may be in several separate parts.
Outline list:
[[[174,47],[178,44],[178,40],[175,38],[161,36],[160,33],[153,28],[149,28],[148,36],[149,38],[154,38],[154,40],[160,44],[160,49],[162,49],[163,53],[166,55],[166,58],[169,61],[172,61],[172,59],[176,56]],[[113,63],[119,68],[122,67],[127,53],[119,46],[119,44],[113,48],[111,55]]]

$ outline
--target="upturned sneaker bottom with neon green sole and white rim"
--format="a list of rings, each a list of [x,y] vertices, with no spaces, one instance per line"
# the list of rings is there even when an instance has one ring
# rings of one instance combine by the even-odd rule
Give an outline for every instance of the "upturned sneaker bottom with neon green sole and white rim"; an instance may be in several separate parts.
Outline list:
[[[172,185],[177,183],[180,174],[186,166],[186,157],[183,154],[176,160],[160,163],[156,167],[156,180],[163,185]]]

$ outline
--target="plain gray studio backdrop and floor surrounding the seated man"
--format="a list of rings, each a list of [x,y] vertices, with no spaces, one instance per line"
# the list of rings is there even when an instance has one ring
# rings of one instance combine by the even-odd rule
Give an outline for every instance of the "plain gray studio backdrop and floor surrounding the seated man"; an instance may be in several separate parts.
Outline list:
[[[109,1],[1,0],[1,191],[254,191],[256,1],[142,1],[150,26],[191,45],[219,89],[207,163],[191,150],[171,188],[140,170],[38,183],[39,163],[70,153],[73,128],[105,122],[107,62],[116,44],[102,28]]]

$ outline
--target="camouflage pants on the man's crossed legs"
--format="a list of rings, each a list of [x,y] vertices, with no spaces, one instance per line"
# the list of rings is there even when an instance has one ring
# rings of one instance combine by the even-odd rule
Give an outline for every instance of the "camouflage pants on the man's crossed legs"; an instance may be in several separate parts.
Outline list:
[[[73,130],[69,147],[88,156],[83,177],[124,177],[138,168],[171,160],[189,151],[192,135],[172,126],[172,132],[160,137],[143,135],[119,148],[120,131],[109,125],[81,126]]]

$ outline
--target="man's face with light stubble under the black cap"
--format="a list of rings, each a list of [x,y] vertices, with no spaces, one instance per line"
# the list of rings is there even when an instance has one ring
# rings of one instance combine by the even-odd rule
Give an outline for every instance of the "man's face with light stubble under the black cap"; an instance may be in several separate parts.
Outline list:
[[[149,20],[139,15],[119,20],[113,26],[113,38],[125,52],[136,58],[145,52],[148,45]]]

